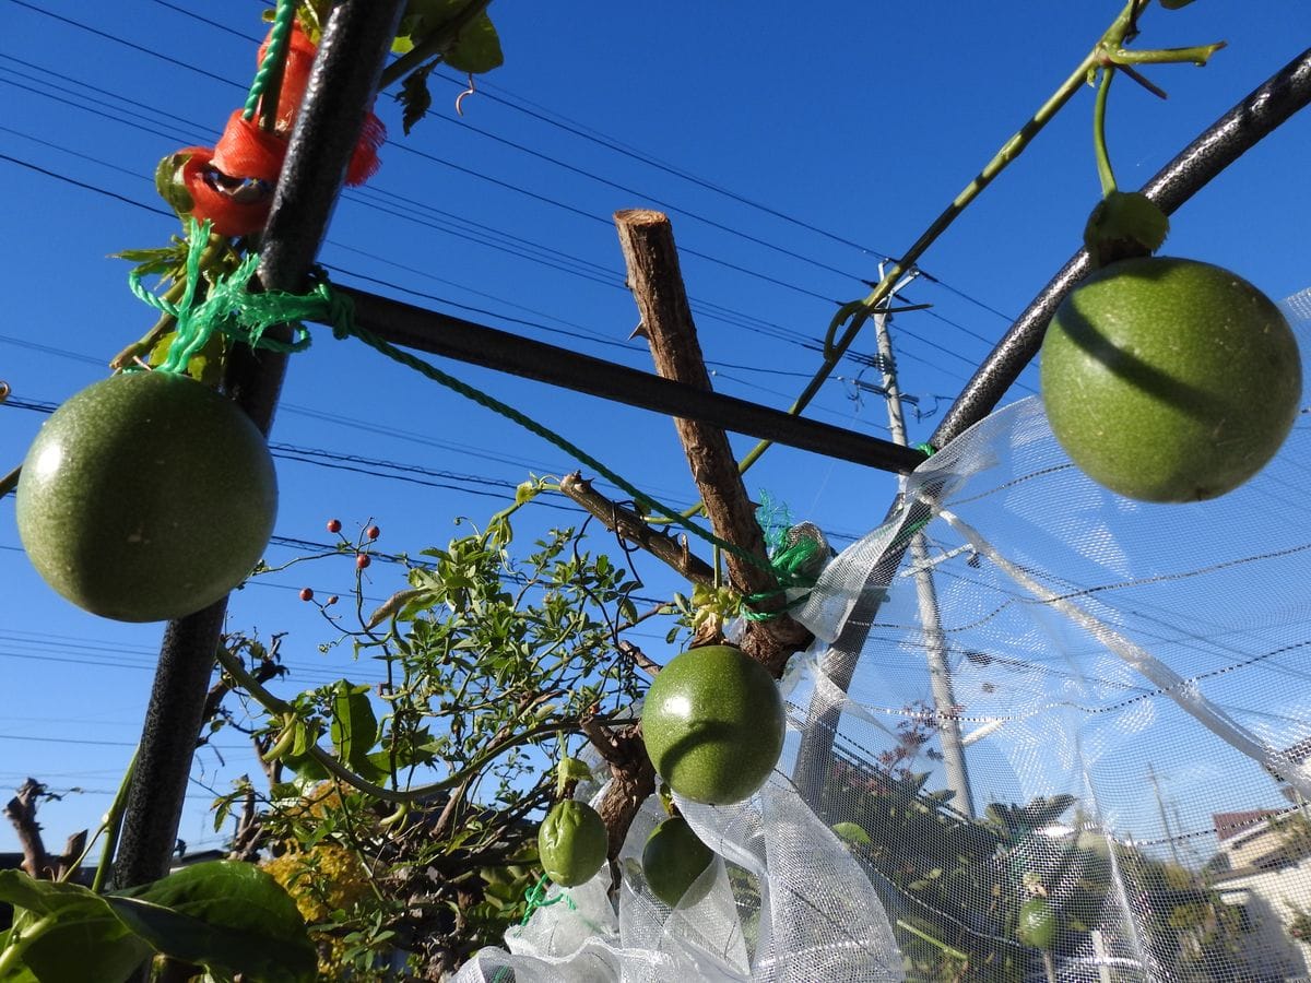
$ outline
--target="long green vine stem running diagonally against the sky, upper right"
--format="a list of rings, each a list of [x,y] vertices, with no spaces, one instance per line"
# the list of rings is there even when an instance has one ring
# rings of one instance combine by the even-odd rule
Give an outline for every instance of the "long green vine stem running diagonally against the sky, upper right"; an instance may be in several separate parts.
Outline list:
[[[893,292],[893,287],[901,280],[901,277],[914,267],[915,262],[922,257],[928,248],[960,218],[961,212],[969,207],[969,204],[982,194],[983,189],[987,187],[992,181],[1006,170],[1015,160],[1028,148],[1033,139],[1042,131],[1044,127],[1055,114],[1071,100],[1075,93],[1083,88],[1088,81],[1091,72],[1096,71],[1100,66],[1106,64],[1108,59],[1124,59],[1134,60],[1142,63],[1145,60],[1167,60],[1167,59],[1145,59],[1139,58],[1139,52],[1127,52],[1124,50],[1124,42],[1129,37],[1130,31],[1135,29],[1134,21],[1137,20],[1138,12],[1142,7],[1141,0],[1129,0],[1125,8],[1120,12],[1110,26],[1103,33],[1093,45],[1092,50],[1083,58],[1082,62],[1075,67],[1072,72],[1061,83],[1059,88],[1047,100],[1038,106],[1038,110],[1029,118],[1029,121],[1021,126],[1015,135],[1011,136],[1002,148],[992,156],[992,159],[983,165],[983,169],[961,190],[960,194],[952,199],[952,203],[943,210],[943,212],[929,224],[927,229],[920,235],[919,239],[906,250],[901,260],[895,261],[884,274],[884,278],[873,288],[873,291],[863,301],[856,301],[853,304],[847,304],[834,315],[832,321],[829,324],[827,338],[831,339],[838,328],[842,326],[844,321],[848,321],[847,329],[843,332],[842,337],[838,338],[832,345],[825,345],[823,362],[819,370],[802,389],[801,395],[796,398],[788,413],[801,413],[810,401],[819,392],[821,387],[829,380],[832,370],[838,367],[842,357],[847,353],[855,342],[856,336],[860,334],[860,329],[864,326],[865,321],[869,320],[871,315],[874,313],[881,303],[888,300]],[[1215,46],[1210,46],[1214,50]],[[1193,56],[1201,56],[1205,48],[1180,48],[1179,52],[1169,52],[1171,55],[1184,54],[1188,55],[1185,60],[1193,60]],[[1142,52],[1147,54],[1147,52]],[[1179,60],[1175,58],[1173,60]],[[760,459],[771,446],[772,440],[762,440],[742,459],[738,465],[741,471],[746,471],[756,460]]]

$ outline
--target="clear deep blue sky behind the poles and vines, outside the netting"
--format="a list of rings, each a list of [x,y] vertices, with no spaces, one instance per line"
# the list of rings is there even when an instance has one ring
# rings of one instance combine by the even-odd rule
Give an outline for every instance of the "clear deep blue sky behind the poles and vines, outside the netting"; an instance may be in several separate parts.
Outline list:
[[[818,363],[813,343],[834,304],[864,295],[860,280],[877,279],[878,260],[914,241],[1116,8],[1004,0],[962,12],[843,0],[798,14],[783,5],[497,3],[506,66],[464,102],[463,118],[452,106],[460,87],[434,79],[433,114],[409,136],[380,98],[391,127],[383,169],[340,203],[321,258],[343,283],[420,291],[430,296],[397,295],[646,368],[644,345],[628,341],[636,313],[610,215],[662,208],[717,388],[785,406]],[[14,398],[60,402],[149,325],[152,312],[127,291],[127,265],[106,257],[163,245],[176,231],[153,211],[155,164],[212,143],[241,104],[261,9],[257,0],[0,0],[9,303],[0,379]],[[1141,45],[1230,46],[1203,71],[1154,71],[1168,102],[1117,85],[1110,148],[1125,187],[1298,54],[1307,18],[1299,0],[1244,5],[1242,16],[1197,3],[1152,9],[1143,28]],[[1097,195],[1089,131],[1091,92],[924,257],[940,284],[920,282],[907,295],[933,308],[894,326],[903,389],[923,408],[954,396],[1007,316],[1079,244]],[[1285,126],[1175,216],[1165,252],[1231,266],[1274,298],[1306,287],[1308,144],[1307,118]],[[857,343],[872,347],[872,338]],[[667,419],[447,368],[670,503],[692,499]],[[860,371],[844,363],[813,415],[885,435],[881,402],[852,398]],[[1036,385],[1030,370],[1011,397]],[[21,460],[43,418],[0,408],[0,471]],[[912,439],[933,425],[912,418]],[[347,531],[372,519],[384,531],[379,545],[395,550],[443,543],[454,516],[494,511],[528,471],[574,467],[511,423],[325,333],[295,357],[271,439],[446,473],[420,485],[279,460],[277,536],[326,541],[330,516]],[[743,451],[751,443],[734,438]],[[839,547],[882,516],[895,488],[888,474],[784,448],[747,485],[818,522]],[[0,782],[34,775],[55,789],[87,789],[43,810],[55,848],[109,803],[139,733],[160,628],[108,623],[62,602],[26,562],[12,515],[10,497],[0,502]],[[570,515],[543,510],[543,522]],[[292,554],[274,545],[269,558]],[[654,562],[642,573],[653,592],[673,585]],[[350,575],[342,560],[261,581],[233,598],[229,624],[287,632],[292,679],[304,685],[342,672],[367,679],[368,667],[317,653],[324,625],[296,599],[307,583],[345,592]],[[371,575],[379,599],[397,586],[395,568]],[[250,767],[236,743],[224,742],[227,765],[212,754],[198,760],[181,830],[193,844],[212,839],[202,784],[223,790]],[[12,848],[12,831],[0,828],[0,849]]]

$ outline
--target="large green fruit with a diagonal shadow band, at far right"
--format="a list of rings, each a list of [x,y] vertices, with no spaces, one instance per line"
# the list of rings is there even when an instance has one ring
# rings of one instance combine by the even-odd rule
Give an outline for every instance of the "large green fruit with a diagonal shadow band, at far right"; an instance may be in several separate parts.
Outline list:
[[[1278,451],[1302,400],[1278,308],[1228,270],[1142,257],[1097,270],[1042,343],[1051,430],[1093,481],[1146,502],[1215,498]]]

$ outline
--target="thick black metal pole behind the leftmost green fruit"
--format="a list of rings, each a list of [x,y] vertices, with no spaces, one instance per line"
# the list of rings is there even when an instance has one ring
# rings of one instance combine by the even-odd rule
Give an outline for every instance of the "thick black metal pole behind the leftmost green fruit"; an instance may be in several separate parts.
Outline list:
[[[402,0],[345,0],[324,29],[261,248],[260,282],[299,291],[328,227],[351,149],[372,105]],[[265,433],[284,357],[239,347],[225,385]],[[168,873],[227,599],[164,632],[114,862],[119,887]]]

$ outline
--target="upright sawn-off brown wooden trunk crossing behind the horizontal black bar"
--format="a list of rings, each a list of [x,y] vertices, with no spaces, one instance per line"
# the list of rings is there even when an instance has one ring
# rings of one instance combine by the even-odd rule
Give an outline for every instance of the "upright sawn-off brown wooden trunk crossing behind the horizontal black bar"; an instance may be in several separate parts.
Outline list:
[[[696,337],[669,218],[645,208],[619,211],[615,227],[656,371],[665,379],[709,391],[711,376]],[[770,568],[764,533],[728,434],[722,427],[692,419],[675,418],[674,425],[711,528],[735,547],[725,550],[733,587],[743,596],[759,595],[763,599],[754,607],[775,615],[750,623],[742,647],[780,675],[788,655],[809,645],[812,636],[783,609],[785,598]]]

